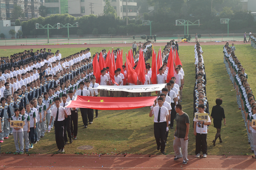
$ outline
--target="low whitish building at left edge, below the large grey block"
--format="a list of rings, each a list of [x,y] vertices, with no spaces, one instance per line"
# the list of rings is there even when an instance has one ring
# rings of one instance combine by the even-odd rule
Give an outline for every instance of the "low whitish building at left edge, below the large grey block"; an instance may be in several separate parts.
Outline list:
[[[13,29],[17,33],[19,30],[22,31],[21,26],[11,26],[11,20],[0,20],[0,30],[1,33],[4,34],[6,39],[11,39],[12,35],[9,34],[9,31]],[[17,34],[15,34],[15,38],[17,38]]]

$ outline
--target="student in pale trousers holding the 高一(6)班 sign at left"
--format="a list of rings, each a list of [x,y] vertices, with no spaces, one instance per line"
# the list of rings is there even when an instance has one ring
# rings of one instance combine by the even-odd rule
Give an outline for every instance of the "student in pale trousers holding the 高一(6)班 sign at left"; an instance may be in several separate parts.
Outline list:
[[[24,123],[24,116],[20,115],[20,109],[15,108],[14,115],[12,115],[11,120],[23,121]],[[24,153],[24,133],[23,128],[13,128],[13,139],[16,147],[16,152],[14,154],[23,154]],[[18,139],[20,139],[20,147]]]

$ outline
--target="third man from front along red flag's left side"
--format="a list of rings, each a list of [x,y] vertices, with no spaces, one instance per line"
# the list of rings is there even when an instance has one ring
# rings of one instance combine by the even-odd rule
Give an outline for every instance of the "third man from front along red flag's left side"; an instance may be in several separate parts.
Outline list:
[[[67,99],[67,102],[70,100],[74,100],[76,97],[73,96],[73,90],[69,90],[69,98]],[[71,130],[71,136],[74,137],[74,139],[77,139],[77,129],[78,129],[78,113],[77,109],[75,107],[70,108],[71,111],[71,122],[70,122],[70,130]],[[73,128],[74,126],[74,128]]]

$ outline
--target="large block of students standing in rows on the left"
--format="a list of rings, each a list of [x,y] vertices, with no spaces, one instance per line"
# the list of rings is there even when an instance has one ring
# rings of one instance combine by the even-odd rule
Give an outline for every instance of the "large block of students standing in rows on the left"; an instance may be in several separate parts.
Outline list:
[[[59,51],[54,54],[50,49],[48,52],[46,49],[37,52],[31,49],[10,57],[1,57],[0,143],[13,135],[15,154],[23,154],[24,147],[28,152],[56,123],[63,123],[65,128],[64,136],[56,137],[56,142],[63,140],[64,145],[68,143],[67,137],[69,143],[77,139],[78,109],[63,108],[77,95],[98,95],[98,90],[92,89],[97,83],[93,77],[89,50],[87,48],[65,58],[61,57]],[[55,108],[60,114],[53,113]],[[64,115],[61,115],[63,111],[65,120]],[[81,109],[81,115],[85,128],[88,119],[89,124],[93,123],[92,109]],[[10,127],[11,120],[24,121],[24,128]],[[55,126],[55,134],[56,127],[59,126]],[[64,152],[64,146],[59,151]]]

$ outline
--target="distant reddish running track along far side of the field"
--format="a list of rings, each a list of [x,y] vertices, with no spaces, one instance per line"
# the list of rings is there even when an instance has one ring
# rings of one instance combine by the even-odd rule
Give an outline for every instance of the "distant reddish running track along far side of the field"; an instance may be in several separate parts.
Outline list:
[[[199,42],[200,45],[225,45],[226,42]],[[243,41],[230,41],[229,44],[231,45],[234,43],[235,45],[237,44],[250,44],[250,43],[244,43]],[[167,43],[153,43],[154,46],[165,46]],[[179,46],[187,46],[187,45],[195,45],[195,42],[190,42],[190,43],[179,43]],[[77,48],[77,47],[82,47],[82,48],[88,48],[88,47],[132,47],[132,43],[104,43],[104,44],[69,44],[69,45],[19,45],[19,46],[0,46],[0,49],[37,49],[37,48]]]

